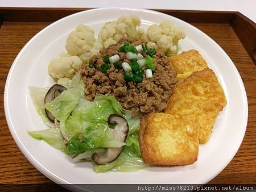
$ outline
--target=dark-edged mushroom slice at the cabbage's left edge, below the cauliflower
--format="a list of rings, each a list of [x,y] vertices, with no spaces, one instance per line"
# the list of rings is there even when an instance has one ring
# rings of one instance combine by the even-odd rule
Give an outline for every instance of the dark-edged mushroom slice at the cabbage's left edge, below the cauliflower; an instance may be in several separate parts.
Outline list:
[[[59,93],[62,93],[63,91],[67,90],[66,87],[55,84],[53,85],[46,93],[46,97],[44,97],[44,103],[49,103],[55,98],[55,91],[59,91]],[[46,109],[46,115],[51,122],[54,122],[55,117]]]

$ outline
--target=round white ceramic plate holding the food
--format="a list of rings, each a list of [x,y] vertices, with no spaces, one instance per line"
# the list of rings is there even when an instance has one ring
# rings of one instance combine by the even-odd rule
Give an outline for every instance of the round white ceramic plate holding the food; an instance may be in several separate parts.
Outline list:
[[[105,22],[129,14],[139,16],[143,28],[164,19],[182,27],[187,37],[180,41],[181,51],[198,50],[207,60],[209,68],[217,74],[225,91],[228,105],[218,115],[210,140],[200,145],[198,160],[192,165],[152,166],[131,173],[94,173],[89,162],[73,163],[71,157],[27,133],[28,130],[47,128],[32,104],[28,86],[53,84],[47,65],[49,60],[64,51],[68,34],[82,23],[91,26],[97,35]],[[245,134],[248,114],[240,74],[217,43],[180,19],[160,12],[131,9],[79,12],[58,20],[35,35],[11,66],[5,87],[5,112],[19,149],[40,172],[56,183],[206,183],[220,173],[236,154]]]

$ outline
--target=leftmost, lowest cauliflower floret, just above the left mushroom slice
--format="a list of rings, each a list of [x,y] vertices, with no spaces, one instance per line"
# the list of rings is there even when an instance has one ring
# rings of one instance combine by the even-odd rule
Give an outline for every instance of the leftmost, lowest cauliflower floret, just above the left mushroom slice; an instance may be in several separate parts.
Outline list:
[[[48,73],[57,79],[64,77],[72,78],[81,66],[82,61],[79,57],[61,52],[58,57],[49,62]]]

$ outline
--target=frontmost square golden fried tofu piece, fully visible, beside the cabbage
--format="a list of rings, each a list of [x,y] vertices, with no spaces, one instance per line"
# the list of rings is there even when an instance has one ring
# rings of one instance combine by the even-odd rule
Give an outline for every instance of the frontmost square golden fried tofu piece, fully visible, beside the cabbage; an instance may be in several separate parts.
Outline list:
[[[197,160],[199,124],[187,116],[152,113],[141,120],[139,144],[144,162],[186,165]]]

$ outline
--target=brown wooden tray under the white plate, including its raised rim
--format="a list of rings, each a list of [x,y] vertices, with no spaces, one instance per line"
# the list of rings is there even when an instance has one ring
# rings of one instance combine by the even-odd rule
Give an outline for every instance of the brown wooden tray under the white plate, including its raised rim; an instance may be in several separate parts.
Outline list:
[[[37,32],[57,19],[86,9],[27,9],[0,7],[0,183],[53,183],[28,162],[7,127],[3,92],[11,64]],[[256,25],[240,12],[156,10],[175,16],[212,37],[236,65],[247,93],[249,119],[242,145],[215,183],[256,182]],[[228,72],[227,72],[228,73]],[[214,165],[209,165],[210,166]]]

